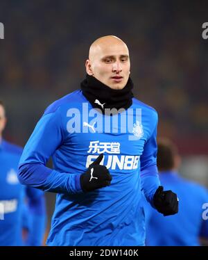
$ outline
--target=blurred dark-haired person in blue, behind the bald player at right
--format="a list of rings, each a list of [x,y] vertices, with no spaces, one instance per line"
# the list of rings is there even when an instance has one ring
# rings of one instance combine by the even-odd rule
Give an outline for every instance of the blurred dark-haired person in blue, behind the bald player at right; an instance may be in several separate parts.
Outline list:
[[[168,138],[157,141],[157,168],[161,184],[173,189],[179,198],[179,213],[164,218],[144,198],[146,245],[200,245],[208,241],[208,220],[202,218],[202,205],[208,202],[206,188],[184,179],[178,173],[181,158]],[[196,172],[197,174],[197,172]]]

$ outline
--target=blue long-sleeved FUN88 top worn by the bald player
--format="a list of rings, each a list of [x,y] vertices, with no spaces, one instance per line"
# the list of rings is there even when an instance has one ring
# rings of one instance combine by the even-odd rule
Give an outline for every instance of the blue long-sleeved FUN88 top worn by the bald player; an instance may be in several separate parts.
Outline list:
[[[24,148],[19,180],[58,193],[48,245],[144,245],[139,202],[141,188],[151,203],[159,186],[156,133],[156,111],[135,98],[112,116],[92,108],[81,90],[46,108]],[[80,174],[101,153],[111,185],[83,193]],[[50,156],[53,170],[45,166]]]

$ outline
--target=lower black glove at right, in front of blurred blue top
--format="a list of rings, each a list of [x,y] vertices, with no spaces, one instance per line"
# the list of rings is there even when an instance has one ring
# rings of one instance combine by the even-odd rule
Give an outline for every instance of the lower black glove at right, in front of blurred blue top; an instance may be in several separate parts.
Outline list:
[[[177,195],[171,190],[163,190],[163,186],[159,186],[153,197],[155,209],[164,216],[174,215],[178,212]]]

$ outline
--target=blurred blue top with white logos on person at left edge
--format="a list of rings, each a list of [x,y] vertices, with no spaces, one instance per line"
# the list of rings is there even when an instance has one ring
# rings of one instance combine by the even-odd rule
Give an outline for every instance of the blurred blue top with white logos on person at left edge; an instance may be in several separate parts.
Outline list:
[[[23,206],[28,201],[27,245],[41,245],[44,234],[45,209],[42,190],[23,186],[17,178],[22,149],[0,142],[0,245],[24,245],[21,237]]]

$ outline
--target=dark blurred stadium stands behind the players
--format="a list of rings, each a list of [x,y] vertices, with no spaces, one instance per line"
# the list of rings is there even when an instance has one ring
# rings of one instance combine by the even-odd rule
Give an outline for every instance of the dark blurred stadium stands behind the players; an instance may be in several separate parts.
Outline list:
[[[0,1],[0,99],[4,138],[24,146],[44,109],[80,88],[89,45],[116,35],[130,49],[137,99],[159,113],[180,172],[208,186],[207,1]],[[49,225],[54,195],[47,194]]]

